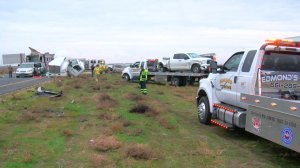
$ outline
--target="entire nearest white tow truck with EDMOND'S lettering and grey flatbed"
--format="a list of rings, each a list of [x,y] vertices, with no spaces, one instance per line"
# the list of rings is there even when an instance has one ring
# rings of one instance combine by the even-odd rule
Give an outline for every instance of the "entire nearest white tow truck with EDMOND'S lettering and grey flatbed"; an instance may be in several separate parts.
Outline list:
[[[200,123],[245,129],[300,152],[299,42],[268,39],[211,67],[196,98]]]

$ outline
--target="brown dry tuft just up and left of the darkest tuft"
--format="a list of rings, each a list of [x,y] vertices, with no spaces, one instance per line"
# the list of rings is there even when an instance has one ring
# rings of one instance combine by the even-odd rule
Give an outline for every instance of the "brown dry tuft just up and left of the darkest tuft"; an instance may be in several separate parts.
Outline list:
[[[117,101],[115,101],[106,93],[98,94],[95,100],[96,103],[98,104],[97,106],[98,109],[109,109],[117,105]]]

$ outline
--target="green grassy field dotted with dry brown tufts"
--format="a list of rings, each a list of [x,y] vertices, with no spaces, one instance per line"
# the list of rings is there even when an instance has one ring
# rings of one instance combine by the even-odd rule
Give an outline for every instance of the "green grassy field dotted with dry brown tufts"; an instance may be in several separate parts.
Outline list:
[[[197,86],[137,83],[108,74],[53,79],[0,97],[0,167],[299,167],[300,155],[243,131],[199,124]]]

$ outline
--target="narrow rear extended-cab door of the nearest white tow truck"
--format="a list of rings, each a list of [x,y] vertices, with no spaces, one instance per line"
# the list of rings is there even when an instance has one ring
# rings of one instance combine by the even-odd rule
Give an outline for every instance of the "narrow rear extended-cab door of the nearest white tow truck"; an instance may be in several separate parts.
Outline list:
[[[254,93],[254,88],[252,88],[253,84],[253,73],[254,68],[252,68],[254,57],[257,53],[257,50],[250,50],[244,61],[243,66],[240,68],[238,75],[236,78],[236,85],[237,85],[237,94],[236,100],[238,102],[239,107],[246,108],[247,105],[240,101],[241,93],[251,94]]]

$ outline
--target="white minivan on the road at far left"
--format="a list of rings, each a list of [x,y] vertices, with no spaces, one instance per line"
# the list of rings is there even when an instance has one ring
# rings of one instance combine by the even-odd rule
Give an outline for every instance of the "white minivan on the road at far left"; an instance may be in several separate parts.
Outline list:
[[[32,77],[45,73],[45,67],[40,62],[26,62],[18,66],[16,77]]]

